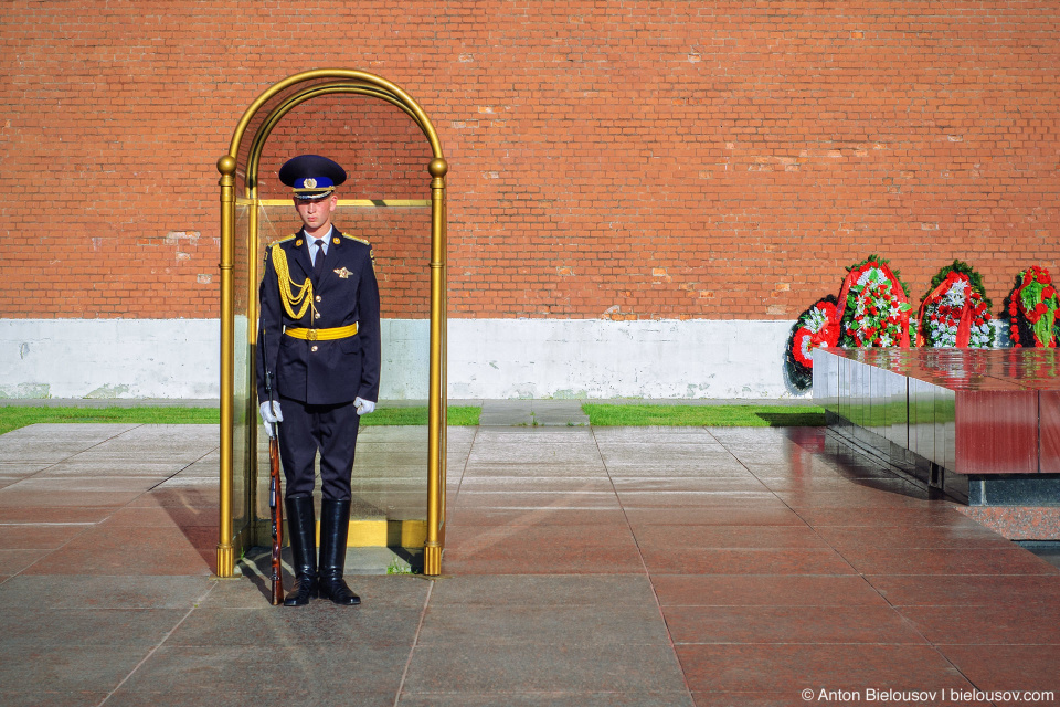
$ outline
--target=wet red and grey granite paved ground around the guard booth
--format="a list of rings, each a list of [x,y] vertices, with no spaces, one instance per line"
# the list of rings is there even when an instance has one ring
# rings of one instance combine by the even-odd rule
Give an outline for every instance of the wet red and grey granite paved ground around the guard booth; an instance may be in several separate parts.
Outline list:
[[[444,578],[284,609],[212,577],[214,428],[0,436],[0,704],[1060,701],[1057,568],[824,430],[484,425],[448,454]]]

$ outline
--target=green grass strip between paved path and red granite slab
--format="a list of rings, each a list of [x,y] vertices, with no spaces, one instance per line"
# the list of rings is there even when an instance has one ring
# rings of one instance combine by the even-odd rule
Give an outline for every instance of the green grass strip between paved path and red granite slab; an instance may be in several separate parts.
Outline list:
[[[789,428],[822,426],[817,405],[611,405],[586,403],[589,424],[615,426]]]

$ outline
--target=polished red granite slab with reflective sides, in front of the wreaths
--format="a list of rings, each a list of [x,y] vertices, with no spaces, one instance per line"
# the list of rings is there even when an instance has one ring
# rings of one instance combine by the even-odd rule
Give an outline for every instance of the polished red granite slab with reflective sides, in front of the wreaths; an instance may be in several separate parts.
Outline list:
[[[818,360],[814,397],[857,430],[957,474],[1060,472],[1056,349],[829,349],[815,371]]]

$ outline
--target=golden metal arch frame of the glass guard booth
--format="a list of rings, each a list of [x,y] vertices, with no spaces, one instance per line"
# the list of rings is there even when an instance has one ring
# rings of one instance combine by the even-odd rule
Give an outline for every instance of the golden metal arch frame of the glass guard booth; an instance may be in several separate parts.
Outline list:
[[[442,549],[445,544],[445,432],[446,432],[446,205],[445,175],[448,166],[442,143],[431,119],[409,94],[393,83],[361,71],[322,68],[288,76],[257,97],[244,112],[232,135],[229,151],[218,160],[221,172],[221,492],[220,538],[218,544],[219,577],[232,577],[236,548],[245,545],[246,528],[236,528],[233,517],[235,481],[235,435],[240,425],[253,442],[256,430],[256,407],[245,399],[235,405],[236,298],[235,211],[236,201],[257,201],[258,163],[266,139],[279,120],[296,106],[318,96],[336,93],[359,94],[398,106],[423,131],[431,146],[427,163],[431,176],[431,324],[430,376],[427,383],[427,529],[424,547],[424,574],[442,573]],[[242,196],[237,197],[237,191]],[[247,212],[247,252],[258,245],[257,211]],[[246,262],[244,285],[246,299],[246,348],[256,345],[257,336],[257,263]],[[245,352],[244,352],[245,355]],[[253,393],[251,393],[253,395]],[[239,413],[240,420],[236,420]],[[250,420],[250,423],[247,421]]]

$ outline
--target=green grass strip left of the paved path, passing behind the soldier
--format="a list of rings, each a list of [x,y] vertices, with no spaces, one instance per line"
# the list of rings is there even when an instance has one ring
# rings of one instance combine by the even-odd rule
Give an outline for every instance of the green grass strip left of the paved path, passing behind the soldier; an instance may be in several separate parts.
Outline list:
[[[447,422],[451,425],[478,424],[481,412],[477,407],[451,407]],[[221,411],[216,408],[47,408],[31,405],[0,407],[0,434],[36,423],[66,424],[76,422],[103,422],[110,424],[220,424]],[[425,425],[426,405],[413,408],[381,408],[361,418],[364,425]]]

